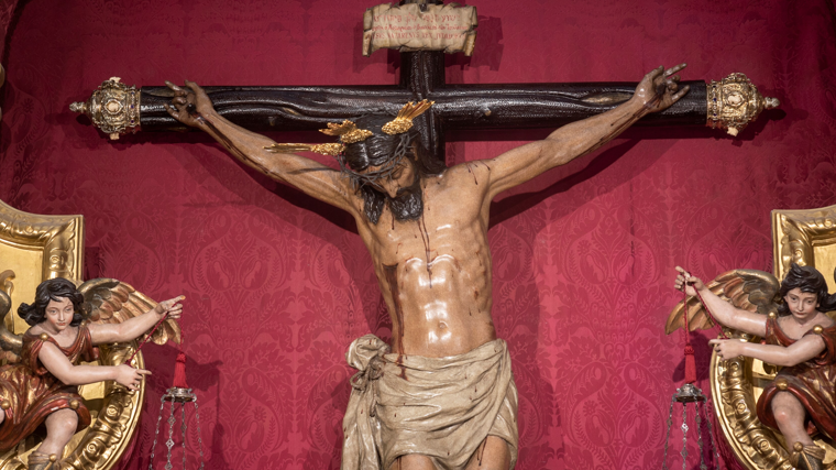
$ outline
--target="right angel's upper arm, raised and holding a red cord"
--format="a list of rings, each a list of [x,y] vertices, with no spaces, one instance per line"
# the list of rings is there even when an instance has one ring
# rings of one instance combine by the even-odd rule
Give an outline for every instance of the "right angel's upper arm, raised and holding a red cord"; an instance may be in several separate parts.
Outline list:
[[[748,332],[759,337],[767,336],[767,317],[766,315],[747,311],[740,308],[736,308],[728,302],[717,297],[708,287],[700,281],[698,277],[694,277],[685,270],[676,266],[679,275],[674,282],[674,287],[682,291],[685,288],[685,294],[696,295],[700,292],[700,297],[703,300],[705,307],[711,310],[712,316],[728,328],[733,328],[739,331]],[[738,354],[739,356],[739,354]]]

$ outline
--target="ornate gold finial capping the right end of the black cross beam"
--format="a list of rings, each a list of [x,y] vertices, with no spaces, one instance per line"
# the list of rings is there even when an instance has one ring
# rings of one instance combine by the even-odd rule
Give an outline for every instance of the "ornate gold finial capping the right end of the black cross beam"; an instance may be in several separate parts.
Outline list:
[[[725,129],[735,136],[749,122],[758,119],[765,109],[778,108],[781,102],[777,98],[765,97],[758,91],[749,78],[735,73],[728,77],[707,85],[707,120],[712,129]]]

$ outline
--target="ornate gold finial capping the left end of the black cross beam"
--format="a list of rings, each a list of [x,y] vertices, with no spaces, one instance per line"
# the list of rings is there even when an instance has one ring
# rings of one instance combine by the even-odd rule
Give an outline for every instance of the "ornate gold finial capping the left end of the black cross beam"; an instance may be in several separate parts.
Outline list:
[[[69,110],[87,114],[111,140],[140,130],[140,91],[121,83],[119,77],[102,81],[87,101],[76,101],[69,105]]]

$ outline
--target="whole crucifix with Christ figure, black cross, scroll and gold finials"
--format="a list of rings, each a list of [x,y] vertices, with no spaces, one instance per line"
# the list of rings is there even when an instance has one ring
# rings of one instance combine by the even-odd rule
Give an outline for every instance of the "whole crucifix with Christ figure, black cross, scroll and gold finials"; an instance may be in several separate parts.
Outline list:
[[[405,40],[394,41],[402,50],[397,86],[204,89],[187,81],[138,90],[112,79],[73,106],[111,138],[140,128],[202,130],[244,164],[354,218],[392,341],[366,335],[345,354],[359,372],[343,419],[343,470],[514,467],[517,389],[492,317],[494,197],[641,119],[735,133],[776,105],[740,75],[680,83],[684,64],[638,84],[449,85],[439,48],[450,44],[433,41],[472,44],[474,23],[472,7],[437,0],[373,8],[366,51]],[[429,46],[413,43],[417,37]],[[558,130],[498,156],[443,165],[446,131],[543,127]],[[320,145],[278,144],[254,132],[322,128],[339,136],[328,144],[333,153],[320,150],[340,171],[292,153]]]

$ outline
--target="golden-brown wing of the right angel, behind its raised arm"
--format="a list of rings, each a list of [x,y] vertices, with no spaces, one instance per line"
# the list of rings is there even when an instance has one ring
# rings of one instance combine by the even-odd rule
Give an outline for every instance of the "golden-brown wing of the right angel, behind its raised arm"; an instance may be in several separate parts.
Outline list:
[[[778,309],[776,295],[781,284],[776,276],[763,271],[732,270],[717,276],[707,284],[707,287],[737,308],[767,315]],[[668,317],[668,323],[664,325],[666,335],[684,326],[683,313],[683,303],[680,302]],[[691,331],[714,326],[705,307],[694,296],[688,298],[688,326]]]

